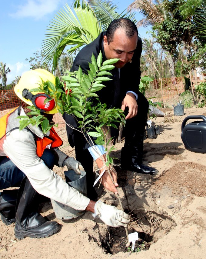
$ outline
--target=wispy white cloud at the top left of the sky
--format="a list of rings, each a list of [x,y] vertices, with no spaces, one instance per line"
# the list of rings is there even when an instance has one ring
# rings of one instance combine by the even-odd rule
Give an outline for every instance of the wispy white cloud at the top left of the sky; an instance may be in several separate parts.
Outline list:
[[[57,10],[60,2],[61,0],[26,0],[24,5],[17,6],[17,11],[11,16],[17,18],[33,17],[38,20]]]

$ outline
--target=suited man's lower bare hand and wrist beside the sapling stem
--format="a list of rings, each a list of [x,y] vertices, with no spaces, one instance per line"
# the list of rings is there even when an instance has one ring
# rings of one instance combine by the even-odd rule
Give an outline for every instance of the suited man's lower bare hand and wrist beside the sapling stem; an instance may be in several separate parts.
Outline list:
[[[102,158],[103,158],[104,161],[102,161]],[[118,191],[117,191],[117,188],[116,188],[116,187],[119,186],[118,183],[117,183],[117,172],[115,171],[114,168],[112,168],[111,166],[109,166],[109,168],[110,168],[110,173],[111,173],[112,178],[113,178],[113,181],[114,181],[114,183],[115,183],[115,184],[114,184],[114,183],[112,182],[111,177],[110,177],[110,175],[109,175],[109,173],[108,173],[108,171],[107,171],[107,168],[106,168],[106,166],[105,166],[106,156],[105,156],[105,155],[102,155],[101,157],[99,157],[99,158],[98,158],[97,160],[95,160],[95,161],[96,161],[96,163],[97,163],[97,165],[98,165],[98,168],[101,168],[99,174],[101,174],[101,172],[106,169],[105,173],[104,173],[104,174],[102,175],[102,177],[101,177],[101,183],[102,183],[102,185],[104,185],[104,187],[105,187],[108,191],[114,192],[115,194],[118,194]]]

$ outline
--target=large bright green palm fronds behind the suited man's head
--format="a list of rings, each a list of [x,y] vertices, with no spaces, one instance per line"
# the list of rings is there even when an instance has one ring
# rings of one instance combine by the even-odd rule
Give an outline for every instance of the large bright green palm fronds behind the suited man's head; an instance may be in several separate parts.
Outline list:
[[[45,63],[52,63],[52,71],[56,71],[62,52],[66,46],[73,46],[67,50],[71,55],[76,49],[95,40],[108,24],[117,18],[133,19],[134,13],[122,12],[118,14],[111,1],[103,0],[76,0],[74,12],[66,4],[50,22],[46,30],[42,51]],[[134,20],[134,19],[133,19]]]

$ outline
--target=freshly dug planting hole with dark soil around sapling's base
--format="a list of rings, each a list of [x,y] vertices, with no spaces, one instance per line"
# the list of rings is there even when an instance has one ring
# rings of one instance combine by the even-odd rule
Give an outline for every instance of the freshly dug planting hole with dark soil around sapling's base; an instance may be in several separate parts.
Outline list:
[[[127,211],[125,211],[127,212]],[[165,236],[176,226],[174,221],[166,214],[157,214],[156,212],[129,213],[131,222],[128,224],[128,233],[138,232],[139,239],[135,242],[135,250],[148,250],[152,243]],[[131,246],[126,247],[127,237],[124,227],[109,228],[108,235],[102,242],[102,247],[108,254],[117,254],[118,252],[129,252]]]

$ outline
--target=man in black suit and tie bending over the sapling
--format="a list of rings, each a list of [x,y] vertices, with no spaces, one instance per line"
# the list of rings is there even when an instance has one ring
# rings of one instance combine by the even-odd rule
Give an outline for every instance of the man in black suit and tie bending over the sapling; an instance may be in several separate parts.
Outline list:
[[[71,71],[81,67],[83,73],[88,74],[92,53],[95,58],[102,53],[103,60],[119,58],[115,68],[111,70],[113,80],[104,82],[105,86],[97,92],[101,103],[109,108],[121,108],[125,111],[126,125],[123,130],[125,145],[121,150],[121,168],[136,171],[141,174],[157,174],[158,170],[142,164],[144,130],[148,114],[148,101],[138,91],[141,71],[140,56],[142,51],[141,38],[135,23],[129,19],[116,19],[110,23],[106,32],[102,32],[93,42],[80,50],[72,65]],[[77,126],[75,119],[65,114],[66,123]],[[94,199],[96,192],[93,188],[93,160],[98,168],[104,168],[101,157],[94,154],[86,143],[82,134],[67,128],[68,141],[75,146],[76,159],[81,162],[87,172],[88,197]],[[118,130],[111,129],[111,136],[117,137]],[[97,147],[105,160],[105,152],[101,146]],[[103,168],[100,171],[103,171]],[[117,175],[115,169],[111,172],[115,185],[107,171],[102,176],[102,184],[109,191],[117,193]]]

